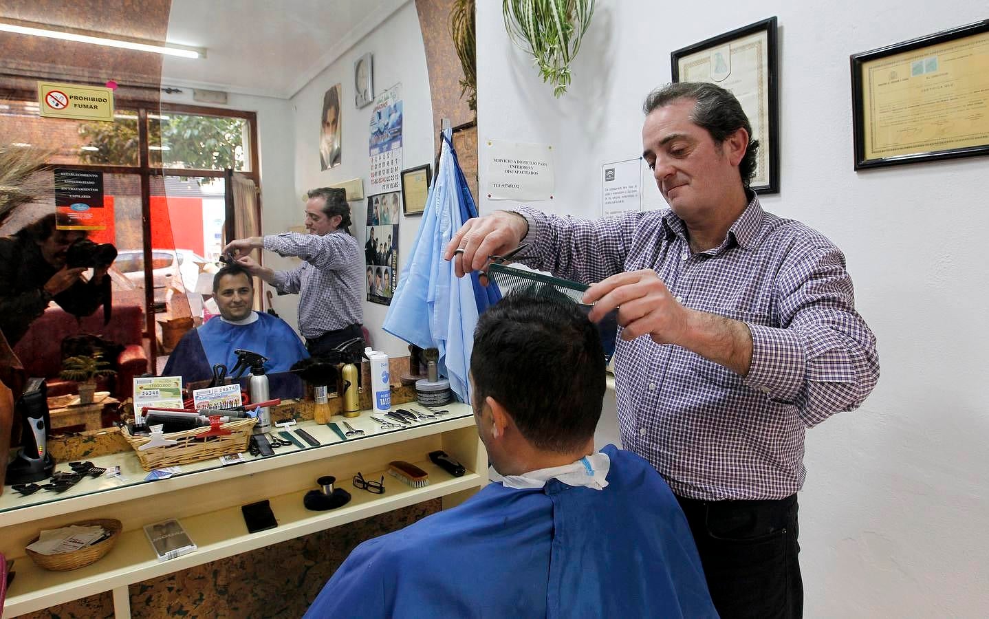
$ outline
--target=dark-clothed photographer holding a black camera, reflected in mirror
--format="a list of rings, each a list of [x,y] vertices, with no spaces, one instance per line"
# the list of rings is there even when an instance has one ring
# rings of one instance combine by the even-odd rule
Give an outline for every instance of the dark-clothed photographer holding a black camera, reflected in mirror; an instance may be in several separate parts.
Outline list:
[[[109,303],[107,269],[117,250],[89,241],[86,230],[56,227],[66,222],[51,214],[0,238],[0,330],[11,346],[51,301],[80,317]]]

